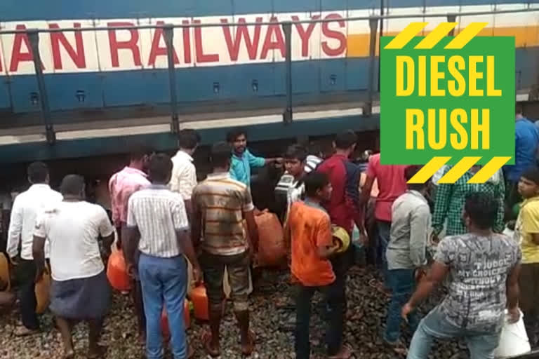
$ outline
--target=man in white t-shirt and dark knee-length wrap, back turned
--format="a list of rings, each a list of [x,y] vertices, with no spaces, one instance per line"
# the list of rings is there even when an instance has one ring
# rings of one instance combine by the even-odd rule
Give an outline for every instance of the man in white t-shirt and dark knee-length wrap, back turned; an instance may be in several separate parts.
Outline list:
[[[84,178],[67,175],[60,186],[63,201],[44,210],[34,231],[33,254],[36,280],[44,273],[45,241],[51,245],[51,305],[62,334],[64,358],[74,357],[71,328],[78,320],[88,321],[88,358],[98,358],[103,318],[111,290],[99,251],[114,241],[114,228],[107,212],[84,201]]]

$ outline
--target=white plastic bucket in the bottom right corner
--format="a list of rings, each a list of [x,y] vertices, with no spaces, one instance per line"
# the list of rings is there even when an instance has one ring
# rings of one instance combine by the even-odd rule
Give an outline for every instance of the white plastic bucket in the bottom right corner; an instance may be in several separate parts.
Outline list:
[[[494,351],[495,358],[512,358],[523,355],[531,351],[526,327],[524,327],[524,315],[520,313],[520,319],[517,323],[507,322],[507,311],[505,311],[505,323],[500,335],[500,344]]]

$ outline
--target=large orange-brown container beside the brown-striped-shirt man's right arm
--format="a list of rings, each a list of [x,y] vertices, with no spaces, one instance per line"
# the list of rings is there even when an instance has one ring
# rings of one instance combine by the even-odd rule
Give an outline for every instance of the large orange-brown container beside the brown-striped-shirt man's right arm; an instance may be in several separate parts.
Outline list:
[[[286,258],[284,231],[277,215],[265,212],[255,216],[258,226],[258,265],[277,266]]]

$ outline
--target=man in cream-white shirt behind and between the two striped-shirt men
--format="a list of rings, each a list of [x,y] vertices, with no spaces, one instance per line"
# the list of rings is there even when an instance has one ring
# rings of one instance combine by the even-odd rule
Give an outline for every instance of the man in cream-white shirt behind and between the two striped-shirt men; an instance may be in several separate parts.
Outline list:
[[[197,170],[193,163],[193,154],[200,143],[200,135],[195,130],[180,130],[178,144],[180,149],[172,158],[173,168],[170,187],[179,193],[185,201],[187,217],[191,217],[191,195],[197,186]]]

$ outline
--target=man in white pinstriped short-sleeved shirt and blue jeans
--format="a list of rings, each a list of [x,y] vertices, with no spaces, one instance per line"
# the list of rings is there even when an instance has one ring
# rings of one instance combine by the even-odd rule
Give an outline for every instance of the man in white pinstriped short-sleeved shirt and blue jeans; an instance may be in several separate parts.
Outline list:
[[[187,292],[187,262],[194,280],[199,262],[189,238],[189,221],[182,196],[167,187],[172,161],[156,154],[149,161],[152,185],[129,198],[124,251],[129,268],[138,269],[146,313],[146,356],[163,357],[161,312],[166,307],[174,358],[187,358],[183,309]],[[135,259],[138,248],[140,258]],[[185,255],[185,257],[184,257]]]

